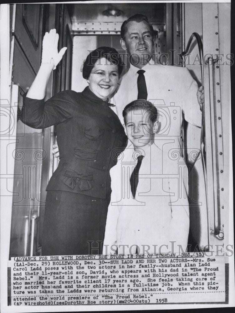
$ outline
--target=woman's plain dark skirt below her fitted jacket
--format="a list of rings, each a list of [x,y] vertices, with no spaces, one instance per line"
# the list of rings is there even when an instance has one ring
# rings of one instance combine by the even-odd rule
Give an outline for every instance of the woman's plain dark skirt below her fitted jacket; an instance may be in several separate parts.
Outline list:
[[[42,255],[102,253],[110,197],[50,190],[46,202]]]

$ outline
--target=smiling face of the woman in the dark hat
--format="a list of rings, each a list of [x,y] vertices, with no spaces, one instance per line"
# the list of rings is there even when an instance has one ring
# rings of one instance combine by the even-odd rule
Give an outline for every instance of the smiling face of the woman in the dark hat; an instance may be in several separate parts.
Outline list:
[[[96,61],[90,73],[89,89],[100,99],[107,100],[116,90],[118,79],[118,66],[101,58]]]

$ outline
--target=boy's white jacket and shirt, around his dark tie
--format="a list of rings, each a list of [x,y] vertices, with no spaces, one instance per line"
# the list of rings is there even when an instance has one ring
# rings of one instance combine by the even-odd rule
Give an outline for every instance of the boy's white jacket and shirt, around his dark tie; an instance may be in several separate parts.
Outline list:
[[[186,250],[189,232],[186,164],[179,151],[170,154],[167,144],[164,145],[162,141],[158,146],[154,143],[148,146],[143,155],[135,199],[130,190],[130,175],[138,154],[132,144],[127,146],[110,170],[112,193],[103,254],[113,254],[115,249],[111,250],[111,246],[114,244],[139,247],[145,244],[151,246],[150,253],[158,252],[162,244],[168,244],[168,248],[162,247],[161,252],[177,252],[177,245]],[[179,176],[178,172],[185,177]],[[159,174],[163,176],[159,177]],[[153,178],[153,175],[158,178]],[[181,198],[178,198],[178,186]],[[175,242],[175,251],[172,251],[170,241]],[[153,245],[157,245],[156,248]],[[125,253],[128,251],[125,250]],[[119,250],[119,253],[123,253],[123,250]]]

